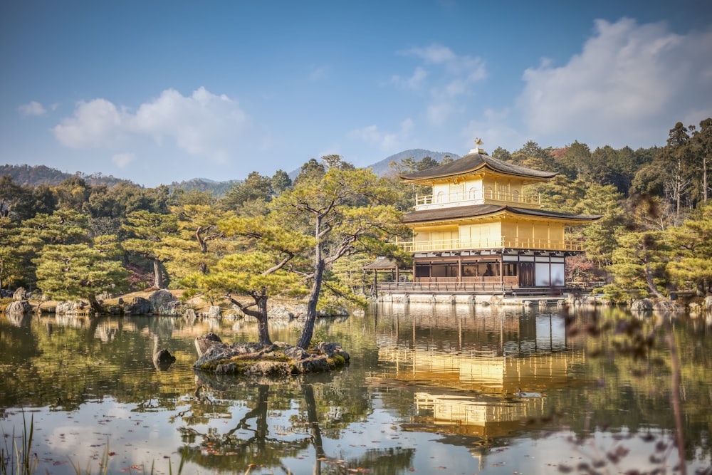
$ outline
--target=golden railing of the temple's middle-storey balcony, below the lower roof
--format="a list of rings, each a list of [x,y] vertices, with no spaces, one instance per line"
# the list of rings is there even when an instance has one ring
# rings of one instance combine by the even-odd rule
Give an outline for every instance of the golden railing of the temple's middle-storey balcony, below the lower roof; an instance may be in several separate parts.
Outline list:
[[[547,251],[583,251],[582,241],[550,239],[436,239],[392,243],[406,252],[465,251],[469,249],[541,249]]]

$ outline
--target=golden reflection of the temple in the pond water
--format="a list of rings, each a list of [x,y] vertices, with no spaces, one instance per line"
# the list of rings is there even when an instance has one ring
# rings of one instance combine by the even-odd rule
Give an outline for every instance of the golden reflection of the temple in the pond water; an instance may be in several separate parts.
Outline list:
[[[556,312],[387,304],[376,387],[407,388],[412,429],[489,439],[550,416],[547,392],[585,361]]]

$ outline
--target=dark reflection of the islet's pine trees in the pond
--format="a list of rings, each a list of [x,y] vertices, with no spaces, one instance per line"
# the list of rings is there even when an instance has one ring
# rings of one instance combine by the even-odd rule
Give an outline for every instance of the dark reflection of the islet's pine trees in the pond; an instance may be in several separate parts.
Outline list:
[[[305,450],[313,447],[315,474],[340,473],[350,466],[403,473],[412,466],[414,449],[367,449],[362,456],[349,460],[325,451],[325,437],[340,439],[344,429],[354,422],[365,421],[371,410],[370,395],[365,389],[353,388],[347,397],[335,397],[328,385],[331,379],[328,375],[310,375],[276,382],[199,373],[197,397],[189,409],[179,413],[185,422],[179,429],[186,444],[182,449],[184,455],[210,469],[249,467],[259,461],[268,469],[281,468],[292,473],[293,468],[284,466],[288,463],[284,460],[303,456]],[[211,392],[211,396],[199,396],[201,390]],[[219,399],[224,397],[229,399]],[[235,400],[244,401],[246,410],[234,424],[224,431],[209,424],[211,419],[231,418],[234,410],[231,402]],[[211,417],[204,419],[198,414],[204,414],[206,407]],[[287,422],[269,424],[271,417]]]

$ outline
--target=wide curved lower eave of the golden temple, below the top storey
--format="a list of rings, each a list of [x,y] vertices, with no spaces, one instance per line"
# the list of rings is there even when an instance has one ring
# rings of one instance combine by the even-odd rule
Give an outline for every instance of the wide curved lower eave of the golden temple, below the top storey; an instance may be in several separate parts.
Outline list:
[[[586,224],[600,219],[595,214],[567,214],[543,209],[527,209],[494,204],[474,204],[468,207],[441,209],[424,209],[409,212],[403,216],[404,224],[434,224],[437,222],[463,221],[465,219],[481,219],[495,216],[511,216],[513,218],[545,219],[564,221],[570,224]]]

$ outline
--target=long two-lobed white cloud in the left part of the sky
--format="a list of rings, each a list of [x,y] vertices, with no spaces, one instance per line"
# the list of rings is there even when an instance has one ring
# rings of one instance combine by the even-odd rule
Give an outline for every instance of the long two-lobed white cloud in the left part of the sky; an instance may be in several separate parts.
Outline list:
[[[229,160],[250,126],[234,100],[199,88],[190,96],[164,90],[135,114],[101,98],[80,102],[74,115],[61,120],[53,132],[73,148],[110,148],[140,137],[152,137],[158,145],[169,140],[192,155],[221,163]]]

